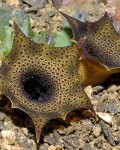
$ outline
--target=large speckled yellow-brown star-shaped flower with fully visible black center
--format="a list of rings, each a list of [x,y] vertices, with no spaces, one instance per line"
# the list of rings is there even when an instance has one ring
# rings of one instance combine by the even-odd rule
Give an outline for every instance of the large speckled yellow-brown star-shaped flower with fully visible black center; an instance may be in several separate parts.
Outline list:
[[[14,22],[13,48],[2,58],[1,91],[13,108],[26,112],[33,120],[36,140],[47,121],[92,104],[78,73],[80,51],[76,45],[55,48],[37,44],[26,37]]]

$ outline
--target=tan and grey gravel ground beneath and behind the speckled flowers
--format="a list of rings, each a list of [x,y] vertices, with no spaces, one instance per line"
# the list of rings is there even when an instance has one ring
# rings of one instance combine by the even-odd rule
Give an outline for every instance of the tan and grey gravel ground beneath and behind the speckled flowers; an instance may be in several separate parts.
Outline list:
[[[10,0],[5,2],[10,3]],[[37,5],[38,2],[41,3]],[[34,3],[32,0],[21,0],[19,8],[31,15],[32,27],[39,33],[45,30],[48,33],[60,30],[62,17],[47,0],[35,0]],[[65,11],[70,13],[69,10]],[[11,109],[10,101],[5,97],[0,97],[0,149],[119,150],[119,76],[114,75],[104,85],[85,88],[95,110],[103,117],[105,113],[109,115],[110,123],[102,120],[96,121],[86,110],[77,110],[71,112],[65,122],[62,119],[48,122],[43,129],[39,145],[35,142],[34,126],[29,116],[18,109]]]

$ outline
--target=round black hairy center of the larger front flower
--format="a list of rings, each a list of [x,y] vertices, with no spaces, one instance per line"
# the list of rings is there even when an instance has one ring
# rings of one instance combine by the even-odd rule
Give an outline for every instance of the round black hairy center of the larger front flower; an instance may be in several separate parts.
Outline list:
[[[36,71],[24,73],[20,83],[24,94],[32,101],[49,101],[54,93],[54,86],[49,77]]]

